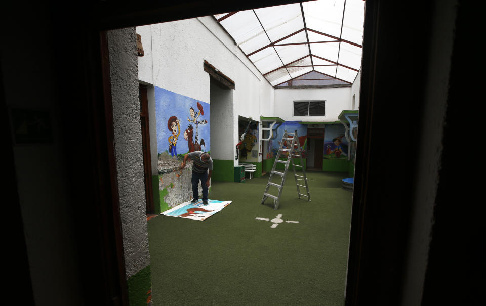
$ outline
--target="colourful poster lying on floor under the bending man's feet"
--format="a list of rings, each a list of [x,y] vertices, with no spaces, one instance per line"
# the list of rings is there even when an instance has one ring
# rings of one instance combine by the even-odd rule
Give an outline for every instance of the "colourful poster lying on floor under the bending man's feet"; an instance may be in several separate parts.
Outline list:
[[[213,214],[220,212],[223,208],[228,206],[231,201],[209,200],[208,205],[204,205],[203,201],[191,203],[187,201],[172,209],[162,212],[161,214],[171,217],[181,217],[192,220],[204,221]]]

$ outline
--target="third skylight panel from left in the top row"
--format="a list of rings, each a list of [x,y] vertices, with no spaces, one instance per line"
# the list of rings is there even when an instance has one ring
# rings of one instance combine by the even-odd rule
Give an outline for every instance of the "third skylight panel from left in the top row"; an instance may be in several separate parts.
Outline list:
[[[343,18],[344,0],[303,2],[308,28],[339,37]]]

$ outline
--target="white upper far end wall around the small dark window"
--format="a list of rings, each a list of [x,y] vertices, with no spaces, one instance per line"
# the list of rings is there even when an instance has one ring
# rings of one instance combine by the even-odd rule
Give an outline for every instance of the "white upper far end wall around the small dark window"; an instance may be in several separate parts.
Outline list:
[[[293,116],[293,101],[326,100],[325,116]],[[343,110],[351,107],[351,86],[316,89],[275,90],[274,114],[286,121],[337,121]]]

